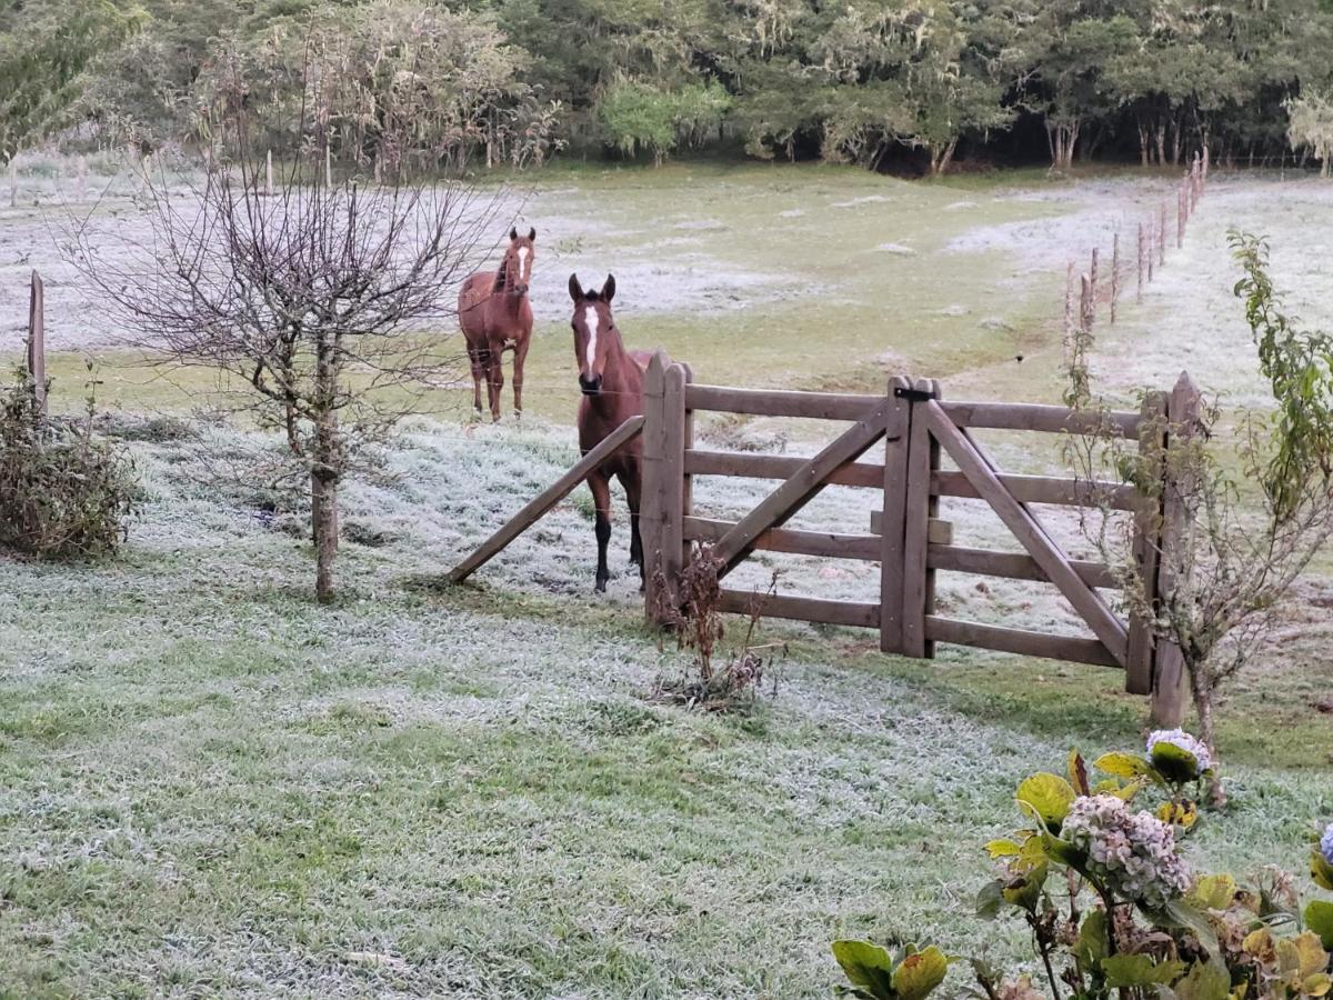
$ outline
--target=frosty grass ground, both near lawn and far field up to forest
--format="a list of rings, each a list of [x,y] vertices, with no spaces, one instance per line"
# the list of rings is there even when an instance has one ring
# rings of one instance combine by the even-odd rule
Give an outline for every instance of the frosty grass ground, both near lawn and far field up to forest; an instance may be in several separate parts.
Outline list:
[[[233,453],[264,443],[191,423],[211,383],[105,336],[61,276],[49,205],[0,209],[0,345],[17,349],[40,267],[53,405],[77,405],[92,351],[107,429],[143,483],[120,559],[0,560],[0,996],[800,997],[838,980],[834,936],[1022,953],[1014,924],[966,916],[990,873],[977,844],[1016,821],[1032,769],[1060,769],[1070,745],[1140,743],[1145,701],[1118,672],[948,647],[902,660],[873,633],[769,624],[788,653],[752,715],[648,703],[685,659],[643,625],[621,507],[617,576],[593,595],[584,489],[476,585],[440,577],[576,457],[571,271],[613,272],[629,345],[701,380],[880,389],[910,371],[954,399],[1054,401],[1065,260],[1172,183],[543,173],[515,201],[539,231],[525,420],[508,384],[496,427],[471,419],[471,384],[436,392],[381,475],[345,491],[332,607],[309,599],[291,497],[204,481],[199,435]],[[1098,328],[1098,379],[1129,401],[1188,367],[1252,403],[1226,228],[1268,233],[1293,303],[1328,325],[1330,220],[1317,183],[1218,177],[1142,304],[1130,293]],[[457,344],[452,328],[423,335]],[[824,428],[701,433],[809,453]],[[1016,471],[1058,460],[990,444]],[[726,509],[764,488],[701,483],[697,499]],[[842,489],[802,512],[862,516]],[[996,532],[965,504],[950,516]],[[868,584],[766,556],[744,579],[772,568],[830,596]],[[1298,868],[1312,817],[1333,812],[1328,571],[1224,708],[1232,812],[1189,841],[1202,867]],[[1033,587],[961,577],[941,595],[1064,620]]]

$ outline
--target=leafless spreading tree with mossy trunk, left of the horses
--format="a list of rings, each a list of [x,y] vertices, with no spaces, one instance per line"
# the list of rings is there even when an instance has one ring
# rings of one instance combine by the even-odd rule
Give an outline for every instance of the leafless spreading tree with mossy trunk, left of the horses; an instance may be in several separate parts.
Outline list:
[[[137,344],[225,373],[244,409],[285,436],[309,473],[316,593],[328,600],[339,484],[360,444],[457,377],[457,356],[423,328],[453,327],[457,283],[501,193],[336,180],[323,159],[288,168],[272,195],[244,156],[211,160],[201,181],[157,171],[145,179],[148,239],[123,236],[104,255],[84,220],[71,243]]]

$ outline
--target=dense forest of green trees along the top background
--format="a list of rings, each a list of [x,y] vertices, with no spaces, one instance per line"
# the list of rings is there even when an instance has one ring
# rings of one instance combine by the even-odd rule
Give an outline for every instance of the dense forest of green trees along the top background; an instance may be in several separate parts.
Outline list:
[[[1322,160],[1333,0],[0,0],[0,156]],[[1290,161],[1288,159],[1288,161]]]

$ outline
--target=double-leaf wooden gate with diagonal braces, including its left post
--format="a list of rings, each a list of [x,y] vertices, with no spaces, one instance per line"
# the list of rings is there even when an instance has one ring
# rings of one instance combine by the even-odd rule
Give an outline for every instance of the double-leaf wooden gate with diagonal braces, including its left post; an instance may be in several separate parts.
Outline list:
[[[1185,387],[1185,389],[1182,389]],[[769,596],[770,617],[876,628],[885,652],[929,657],[934,643],[1054,657],[1125,669],[1125,687],[1153,693],[1158,721],[1178,724],[1184,711],[1178,651],[1154,644],[1142,621],[1125,621],[1104,591],[1120,587],[1102,563],[1070,559],[1033,512],[1033,504],[1105,504],[1133,512],[1134,557],[1152,593],[1158,593],[1158,552],[1170,512],[1133,487],[1073,477],[1006,475],[974,440],[973,429],[1038,433],[1098,432],[1160,449],[1168,408],[1197,404],[1188,377],[1168,407],[1165,393],[1148,396],[1140,413],[1090,415],[1066,407],[1012,403],[948,403],[934,381],[893,379],[882,396],[738,389],[696,385],[688,369],[657,355],[644,381],[644,500],[640,531],[648,559],[648,608],[660,608],[663,585],[672,588],[693,541],[708,543],[730,572],[753,549],[825,559],[880,563],[880,600],[856,603],[816,596]],[[693,413],[716,411],[754,416],[846,421],[848,429],[813,457],[705,451],[694,447]],[[881,457],[861,460],[882,441]],[[956,467],[942,468],[948,457]],[[694,516],[692,479],[698,475],[781,480],[737,521]],[[830,484],[878,491],[881,503],[864,535],[794,531],[782,527]],[[1165,491],[1162,491],[1165,493]],[[954,545],[938,520],[940,497],[985,501],[1022,552]],[[1034,580],[1053,584],[1088,627],[1086,636],[1049,635],[936,613],[937,571]],[[722,607],[745,611],[754,595],[725,588]]]

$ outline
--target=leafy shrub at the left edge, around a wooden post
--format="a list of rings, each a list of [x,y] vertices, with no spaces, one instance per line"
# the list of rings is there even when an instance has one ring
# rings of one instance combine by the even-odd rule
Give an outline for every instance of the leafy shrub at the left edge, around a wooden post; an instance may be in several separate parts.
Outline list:
[[[41,559],[101,556],[125,536],[133,479],[88,420],[47,420],[24,380],[0,393],[0,547]]]

